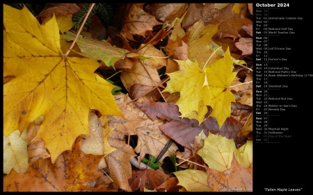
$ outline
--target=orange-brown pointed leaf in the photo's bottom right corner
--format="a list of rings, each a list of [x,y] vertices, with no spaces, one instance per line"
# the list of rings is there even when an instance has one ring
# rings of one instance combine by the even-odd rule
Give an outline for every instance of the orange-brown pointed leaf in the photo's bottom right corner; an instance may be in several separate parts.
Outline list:
[[[220,172],[207,168],[207,173],[207,183],[216,192],[252,192],[252,166],[245,169],[236,158],[230,169]]]

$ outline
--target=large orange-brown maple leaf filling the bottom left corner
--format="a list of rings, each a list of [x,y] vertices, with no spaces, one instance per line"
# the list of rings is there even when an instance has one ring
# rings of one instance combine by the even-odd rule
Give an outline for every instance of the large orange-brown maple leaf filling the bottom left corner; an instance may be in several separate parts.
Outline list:
[[[98,164],[102,155],[85,155],[81,152],[81,136],[73,151],[65,151],[56,158],[34,162],[26,173],[12,170],[3,178],[3,188],[8,192],[70,192],[86,186],[102,176]]]

